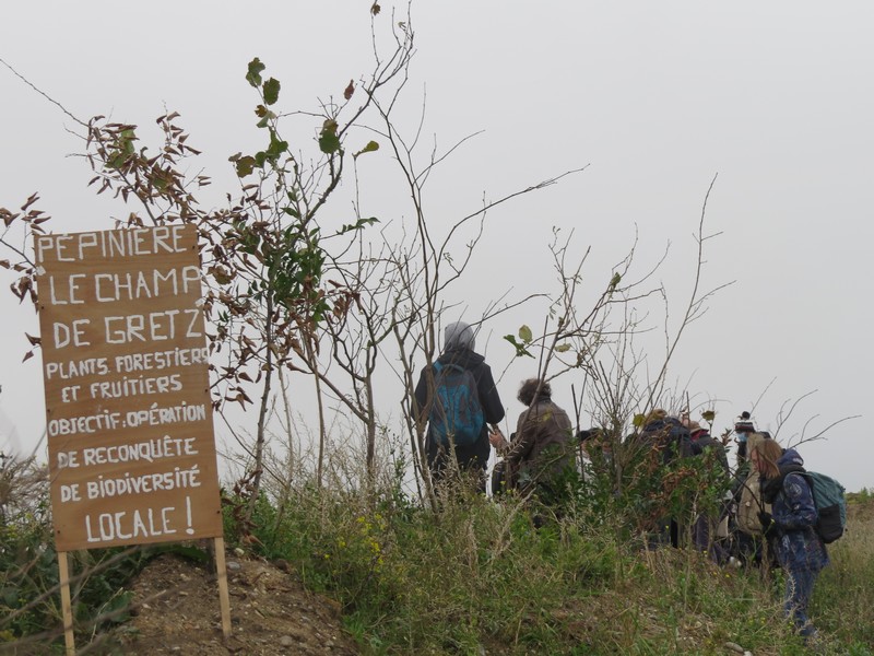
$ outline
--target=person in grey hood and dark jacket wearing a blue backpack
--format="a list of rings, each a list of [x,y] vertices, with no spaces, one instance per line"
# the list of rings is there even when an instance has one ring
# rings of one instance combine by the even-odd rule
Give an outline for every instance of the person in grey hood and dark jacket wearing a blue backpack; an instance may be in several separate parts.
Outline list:
[[[485,492],[485,470],[492,453],[487,424],[504,419],[492,368],[474,352],[473,328],[463,321],[444,329],[444,352],[424,367],[415,389],[416,418],[427,421],[425,454],[432,478],[446,478],[450,465],[472,471]],[[463,424],[463,425],[462,425]]]

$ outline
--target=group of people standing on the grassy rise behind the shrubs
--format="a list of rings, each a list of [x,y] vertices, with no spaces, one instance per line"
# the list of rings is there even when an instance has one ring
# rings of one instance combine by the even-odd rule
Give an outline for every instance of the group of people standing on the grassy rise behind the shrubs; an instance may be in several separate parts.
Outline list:
[[[524,406],[516,430],[507,438],[498,427],[505,409],[484,358],[475,352],[475,333],[462,321],[450,324],[444,331],[444,351],[434,366],[425,367],[415,389],[416,420],[427,424],[425,452],[436,483],[451,471],[471,473],[481,491],[485,491],[486,469],[494,447],[501,460],[493,476],[493,492],[506,489],[535,496],[545,504],[555,503],[565,492],[568,476],[578,471],[576,454],[582,442],[595,431],[575,434],[567,412],[552,399],[552,388],[542,378],[524,380],[518,400]],[[439,405],[438,388],[445,371],[465,372],[468,386],[453,383],[474,399],[474,408],[454,409],[474,418],[474,434],[453,441],[438,430],[434,406]],[[458,396],[458,395],[457,395]],[[464,394],[460,395],[464,397]],[[437,401],[436,401],[437,400]],[[436,401],[436,402],[435,402]],[[450,401],[451,402],[451,401]],[[466,399],[465,399],[465,402]],[[445,401],[445,403],[448,403]],[[439,415],[446,421],[445,414]],[[673,440],[675,432],[682,440]],[[814,526],[817,511],[807,480],[801,476],[803,460],[793,448],[783,449],[764,432],[757,432],[749,414],[742,414],[734,426],[737,443],[737,467],[732,475],[725,447],[709,431],[688,417],[672,418],[663,410],[652,411],[637,435],[661,435],[665,444],[664,459],[712,454],[724,472],[725,503],[716,513],[701,513],[692,527],[695,547],[708,551],[719,562],[735,562],[734,555],[720,543],[724,526],[731,523],[740,544],[736,553],[751,559],[770,554],[786,576],[784,610],[804,636],[816,633],[807,617],[813,585],[819,571],[828,564],[826,547]],[[603,454],[602,454],[603,455]],[[720,525],[722,532],[720,534]],[[673,527],[677,531],[677,527]],[[677,536],[672,536],[677,543]]]

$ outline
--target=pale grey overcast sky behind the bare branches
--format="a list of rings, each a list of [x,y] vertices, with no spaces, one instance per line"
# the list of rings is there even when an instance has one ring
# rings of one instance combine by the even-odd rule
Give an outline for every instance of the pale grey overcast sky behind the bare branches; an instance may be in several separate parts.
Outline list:
[[[284,109],[314,108],[369,70],[369,4],[4,3],[0,58],[81,118],[150,126],[165,107],[179,112],[217,204],[234,188],[227,156],[259,137],[247,62],[260,57],[282,81]],[[387,20],[393,5],[382,7]],[[593,290],[636,233],[639,271],[670,243],[657,280],[680,314],[693,233],[718,176],[706,231],[720,234],[704,285],[734,284],[689,328],[671,380],[712,400],[719,430],[761,397],[754,417],[773,431],[786,401],[814,393],[783,442],[862,415],[802,454],[849,490],[874,487],[874,355],[864,339],[874,324],[874,4],[441,0],[414,3],[412,24],[417,52],[401,122],[414,126],[424,102],[426,132],[444,147],[483,131],[435,181],[436,230],[483,197],[588,165],[489,216],[465,316],[509,288],[521,295],[551,284],[553,226],[572,229],[580,253],[591,247]],[[79,151],[72,121],[5,67],[0,97],[0,206],[38,191],[57,232],[111,227],[125,210],[86,188],[87,166],[68,156]],[[5,448],[26,450],[45,424],[39,359],[21,363],[22,333],[36,333],[36,320],[11,294],[0,295],[0,435]],[[484,328],[494,368],[509,360],[499,336],[523,319]],[[516,366],[501,379],[511,417],[516,386],[532,373]],[[570,406],[570,382],[556,385],[559,403]]]

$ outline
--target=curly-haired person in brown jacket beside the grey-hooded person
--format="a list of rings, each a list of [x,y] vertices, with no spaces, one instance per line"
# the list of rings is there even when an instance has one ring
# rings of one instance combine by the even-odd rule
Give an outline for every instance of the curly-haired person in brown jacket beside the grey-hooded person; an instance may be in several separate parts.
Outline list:
[[[525,406],[519,415],[512,442],[498,432],[489,441],[504,454],[509,487],[522,494],[532,492],[545,505],[557,505],[576,473],[576,448],[570,418],[552,400],[552,387],[529,378],[517,396]]]

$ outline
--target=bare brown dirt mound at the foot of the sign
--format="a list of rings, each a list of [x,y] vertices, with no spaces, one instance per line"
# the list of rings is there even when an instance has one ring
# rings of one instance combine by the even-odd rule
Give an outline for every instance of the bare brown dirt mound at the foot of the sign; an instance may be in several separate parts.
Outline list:
[[[227,642],[214,573],[173,554],[156,558],[137,576],[134,617],[116,639],[137,654],[357,654],[341,628],[339,605],[306,591],[288,567],[232,557],[227,577]]]

